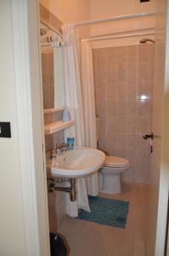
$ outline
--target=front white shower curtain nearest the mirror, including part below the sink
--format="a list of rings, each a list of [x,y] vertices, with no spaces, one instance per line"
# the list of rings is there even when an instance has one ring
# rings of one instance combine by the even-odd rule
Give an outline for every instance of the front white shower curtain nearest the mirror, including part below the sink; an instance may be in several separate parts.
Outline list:
[[[75,26],[65,25],[62,29],[65,40],[65,104],[66,108],[70,110],[71,119],[75,119],[76,123],[74,127],[70,127],[65,131],[65,139],[71,134],[71,136],[76,138],[77,146],[84,146],[85,132],[78,39]],[[78,178],[76,183],[77,201],[71,202],[69,195],[67,193],[65,195],[66,212],[71,217],[78,216],[78,208],[90,212],[85,178]]]

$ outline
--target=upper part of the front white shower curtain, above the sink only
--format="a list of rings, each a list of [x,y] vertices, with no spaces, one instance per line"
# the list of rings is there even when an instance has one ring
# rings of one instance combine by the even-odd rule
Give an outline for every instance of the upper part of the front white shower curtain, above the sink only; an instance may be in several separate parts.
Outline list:
[[[75,127],[65,131],[76,138],[77,146],[84,146],[84,116],[82,104],[82,86],[78,54],[78,41],[75,27],[71,24],[62,27],[65,40],[65,104],[70,110],[71,119],[75,119]]]

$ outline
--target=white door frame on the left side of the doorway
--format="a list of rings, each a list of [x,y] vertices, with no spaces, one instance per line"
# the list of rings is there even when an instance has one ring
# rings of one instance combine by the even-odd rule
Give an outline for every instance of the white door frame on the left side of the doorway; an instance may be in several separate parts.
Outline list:
[[[26,255],[49,256],[39,1],[11,2]]]

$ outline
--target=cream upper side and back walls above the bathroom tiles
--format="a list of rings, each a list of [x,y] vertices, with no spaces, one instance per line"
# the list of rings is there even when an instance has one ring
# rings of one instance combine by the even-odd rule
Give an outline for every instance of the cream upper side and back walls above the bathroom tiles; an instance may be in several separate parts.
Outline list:
[[[138,0],[41,0],[41,3],[64,23],[107,18],[114,15],[132,15],[155,10],[155,0],[151,0],[149,3],[139,3]],[[91,35],[97,36],[99,34],[126,32],[145,27],[155,27],[155,19],[149,17],[100,23],[97,26],[83,26],[80,35],[82,38],[87,38],[90,28]],[[123,39],[117,40],[115,44],[120,42],[123,45],[126,44],[126,41]],[[132,38],[127,44],[138,44],[138,41],[138,38]],[[112,46],[111,43],[112,40],[99,41],[99,43],[93,44],[93,48]]]

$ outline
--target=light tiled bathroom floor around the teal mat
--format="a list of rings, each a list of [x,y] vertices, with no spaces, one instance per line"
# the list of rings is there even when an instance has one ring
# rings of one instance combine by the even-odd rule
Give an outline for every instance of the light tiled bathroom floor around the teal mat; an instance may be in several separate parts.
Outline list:
[[[130,201],[126,229],[67,217],[59,228],[69,243],[69,256],[144,256],[149,186],[125,184],[121,195],[101,195]]]

